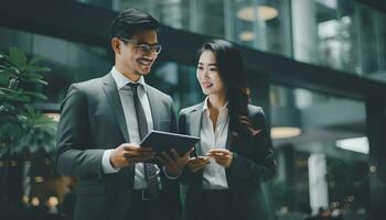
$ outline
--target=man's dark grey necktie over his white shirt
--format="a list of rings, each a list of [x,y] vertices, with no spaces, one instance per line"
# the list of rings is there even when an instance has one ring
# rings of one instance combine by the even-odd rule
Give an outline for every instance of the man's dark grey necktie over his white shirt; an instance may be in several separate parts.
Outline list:
[[[135,102],[137,122],[138,122],[138,132],[142,141],[142,139],[148,134],[149,129],[148,129],[148,121],[146,119],[142,105],[138,97],[137,88],[139,84],[129,84],[129,86],[131,87],[131,90],[132,90],[132,98]],[[144,177],[148,182],[148,190],[153,198],[157,198],[160,190],[158,185],[156,165],[151,163],[143,163],[143,166],[144,166]]]

